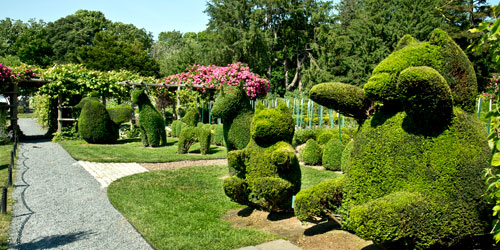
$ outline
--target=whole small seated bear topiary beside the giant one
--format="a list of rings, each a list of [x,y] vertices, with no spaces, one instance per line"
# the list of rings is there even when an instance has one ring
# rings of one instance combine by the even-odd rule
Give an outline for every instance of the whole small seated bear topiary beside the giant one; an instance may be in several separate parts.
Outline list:
[[[228,153],[228,165],[236,175],[224,180],[227,196],[266,211],[291,209],[292,196],[301,183],[299,161],[290,144],[294,125],[285,104],[276,109],[257,106],[250,142],[243,150]]]

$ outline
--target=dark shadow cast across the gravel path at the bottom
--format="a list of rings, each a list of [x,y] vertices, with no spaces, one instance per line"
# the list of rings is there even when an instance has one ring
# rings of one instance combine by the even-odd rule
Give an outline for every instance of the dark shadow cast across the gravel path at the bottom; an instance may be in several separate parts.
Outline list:
[[[43,237],[39,240],[34,240],[31,242],[23,243],[18,246],[15,246],[15,249],[50,249],[50,248],[59,248],[64,245],[84,240],[88,238],[88,236],[94,234],[93,232],[77,232],[70,234],[60,234]]]

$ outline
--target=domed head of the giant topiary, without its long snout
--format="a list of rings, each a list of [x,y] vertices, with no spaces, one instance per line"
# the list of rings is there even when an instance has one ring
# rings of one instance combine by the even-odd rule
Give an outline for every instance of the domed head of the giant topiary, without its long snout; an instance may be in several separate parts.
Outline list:
[[[423,66],[428,68],[421,68]],[[408,84],[410,76],[417,77],[411,86]],[[438,93],[433,94],[428,87]],[[462,49],[446,32],[435,29],[428,42],[404,36],[396,50],[375,67],[363,88],[372,101],[388,105],[402,103],[406,109],[416,108],[412,102],[417,98],[422,108],[431,109],[429,112],[439,112],[441,107],[434,108],[441,104],[454,104],[472,112],[477,80],[472,63]],[[430,107],[426,107],[428,101],[432,101]],[[449,107],[445,109],[450,110]]]

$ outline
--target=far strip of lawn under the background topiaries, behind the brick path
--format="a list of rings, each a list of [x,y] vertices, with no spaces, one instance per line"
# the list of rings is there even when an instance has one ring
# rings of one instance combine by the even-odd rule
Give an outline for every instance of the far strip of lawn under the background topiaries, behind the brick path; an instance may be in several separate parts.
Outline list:
[[[165,147],[144,147],[139,139],[118,140],[117,144],[88,144],[84,140],[64,140],[59,143],[77,160],[93,162],[171,162],[226,158],[224,147],[211,146],[210,154],[201,155],[199,143],[188,154],[177,154],[177,138],[169,137]]]

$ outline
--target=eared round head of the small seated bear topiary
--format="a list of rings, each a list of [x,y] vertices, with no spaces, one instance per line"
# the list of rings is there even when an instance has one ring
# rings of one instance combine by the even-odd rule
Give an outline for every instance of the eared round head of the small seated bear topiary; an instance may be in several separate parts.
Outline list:
[[[294,130],[292,112],[286,104],[280,103],[276,109],[268,109],[260,103],[257,105],[250,128],[250,135],[257,144],[291,143]]]

